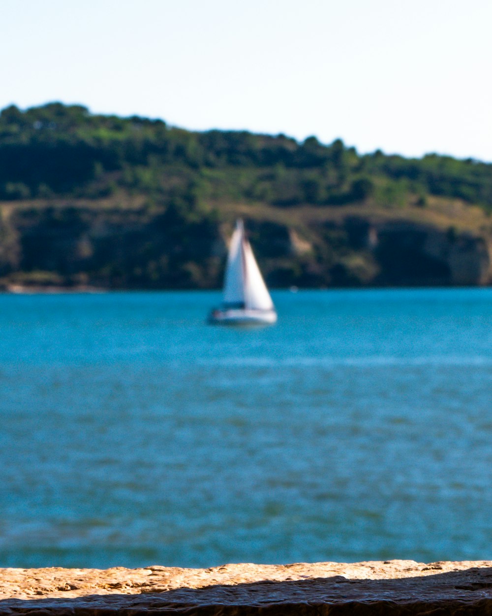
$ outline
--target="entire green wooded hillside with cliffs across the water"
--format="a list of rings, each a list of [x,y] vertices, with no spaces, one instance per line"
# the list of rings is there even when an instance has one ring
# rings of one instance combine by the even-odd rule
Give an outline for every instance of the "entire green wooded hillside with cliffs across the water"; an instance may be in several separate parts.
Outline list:
[[[245,219],[271,286],[492,282],[492,164],[191,132],[50,103],[0,113],[0,286],[215,288]]]

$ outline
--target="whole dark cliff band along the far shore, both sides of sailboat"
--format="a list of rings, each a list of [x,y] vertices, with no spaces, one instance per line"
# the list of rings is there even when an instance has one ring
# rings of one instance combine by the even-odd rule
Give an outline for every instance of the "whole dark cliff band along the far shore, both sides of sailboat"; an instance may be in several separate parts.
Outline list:
[[[486,233],[363,216],[303,224],[246,217],[246,224],[271,286],[492,282]],[[216,288],[230,232],[211,217],[184,220],[171,210],[4,208],[0,278],[4,288]]]

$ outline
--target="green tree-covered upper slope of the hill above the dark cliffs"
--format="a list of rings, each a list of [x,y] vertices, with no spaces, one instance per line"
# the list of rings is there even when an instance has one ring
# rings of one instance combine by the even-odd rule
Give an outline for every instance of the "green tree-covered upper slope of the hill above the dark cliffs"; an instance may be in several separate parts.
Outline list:
[[[221,171],[230,168],[238,173],[228,182]],[[214,181],[218,177],[223,181]],[[341,140],[326,146],[315,137],[298,144],[283,135],[189,132],[161,120],[91,115],[61,103],[1,111],[2,199],[94,198],[117,187],[183,205],[232,192],[277,206],[368,197],[394,205],[415,195],[424,203],[431,194],[492,208],[492,165],[435,154],[360,156]]]

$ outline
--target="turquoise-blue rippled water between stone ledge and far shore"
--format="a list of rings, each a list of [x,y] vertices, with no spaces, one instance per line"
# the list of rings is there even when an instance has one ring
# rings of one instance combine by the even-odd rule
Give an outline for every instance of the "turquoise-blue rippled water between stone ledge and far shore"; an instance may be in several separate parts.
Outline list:
[[[492,559],[492,290],[0,296],[0,565]]]

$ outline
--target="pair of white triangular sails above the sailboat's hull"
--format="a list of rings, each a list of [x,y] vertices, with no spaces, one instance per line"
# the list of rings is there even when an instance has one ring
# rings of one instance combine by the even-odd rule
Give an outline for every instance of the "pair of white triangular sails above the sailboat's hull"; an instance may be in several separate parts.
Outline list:
[[[274,307],[250,243],[244,237],[241,220],[236,222],[229,247],[224,305],[250,310],[272,310]]]

